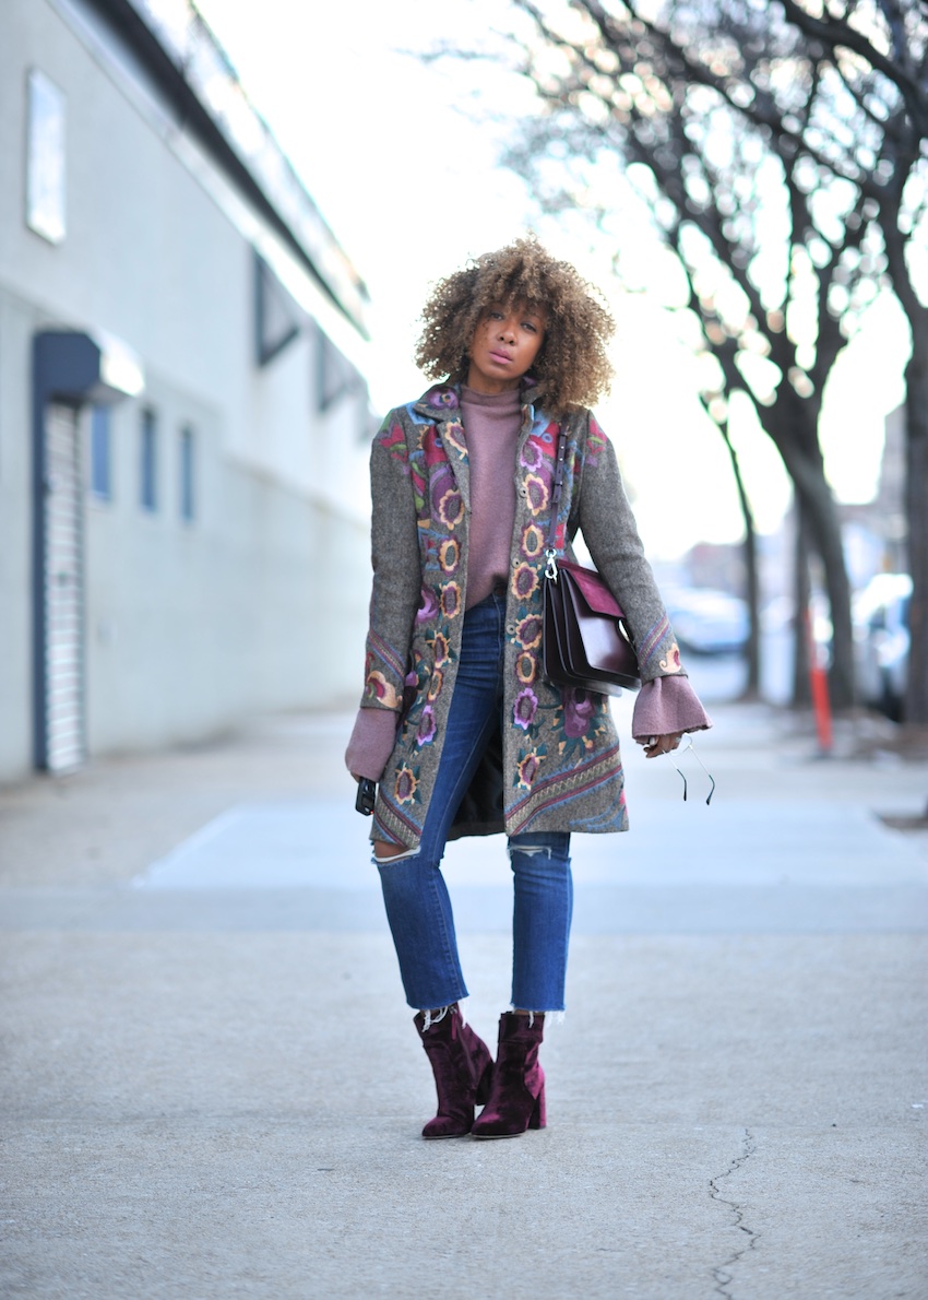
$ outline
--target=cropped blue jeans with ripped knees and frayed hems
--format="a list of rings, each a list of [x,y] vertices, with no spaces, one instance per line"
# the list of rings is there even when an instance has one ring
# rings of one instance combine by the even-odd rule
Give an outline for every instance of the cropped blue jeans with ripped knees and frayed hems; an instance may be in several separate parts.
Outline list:
[[[461,656],[442,760],[419,850],[377,862],[399,970],[409,1006],[430,1010],[467,997],[441,863],[461,796],[503,706],[504,594],[464,615]],[[512,1006],[563,1011],[573,910],[571,836],[509,837],[513,876]]]

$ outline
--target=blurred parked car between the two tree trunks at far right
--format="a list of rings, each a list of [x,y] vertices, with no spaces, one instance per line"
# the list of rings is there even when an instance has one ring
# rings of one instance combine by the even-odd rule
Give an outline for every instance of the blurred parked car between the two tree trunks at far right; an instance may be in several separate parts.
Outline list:
[[[907,573],[877,573],[854,599],[854,651],[860,699],[902,720],[909,672]]]

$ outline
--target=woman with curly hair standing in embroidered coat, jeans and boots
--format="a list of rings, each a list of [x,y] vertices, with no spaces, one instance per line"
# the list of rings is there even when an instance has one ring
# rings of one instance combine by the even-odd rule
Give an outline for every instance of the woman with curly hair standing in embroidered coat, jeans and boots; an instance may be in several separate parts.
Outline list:
[[[626,828],[608,701],[541,672],[554,455],[567,432],[556,543],[582,532],[642,675],[649,758],[711,725],[680,664],[615,454],[587,407],[611,378],[608,312],[533,238],[435,287],[416,361],[435,384],[374,438],[365,692],[346,760],[378,781],[370,838],[438,1113],[425,1138],[545,1126],[545,1017],[564,1010],[571,832]],[[495,1065],[464,1022],[467,987],[441,874],[447,838],[508,836],[512,1010]],[[485,1109],[474,1123],[474,1106]]]

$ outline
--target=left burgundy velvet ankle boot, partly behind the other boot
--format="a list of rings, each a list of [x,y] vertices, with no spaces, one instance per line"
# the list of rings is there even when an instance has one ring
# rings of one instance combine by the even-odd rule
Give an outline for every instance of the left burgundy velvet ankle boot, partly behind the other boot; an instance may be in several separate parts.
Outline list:
[[[490,1093],[493,1057],[482,1039],[464,1023],[458,1006],[425,1028],[425,1014],[415,1017],[435,1076],[438,1114],[422,1130],[422,1138],[465,1138],[473,1124],[473,1108]]]

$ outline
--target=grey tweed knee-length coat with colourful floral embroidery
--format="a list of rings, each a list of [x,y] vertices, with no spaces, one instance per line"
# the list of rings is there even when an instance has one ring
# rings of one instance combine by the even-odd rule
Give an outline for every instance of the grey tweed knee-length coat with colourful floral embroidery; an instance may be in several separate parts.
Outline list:
[[[550,685],[541,671],[545,546],[561,425],[533,404],[534,395],[524,390],[513,467],[502,734],[461,802],[452,837],[628,827],[608,697]],[[582,530],[625,612],[642,681],[680,673],[612,445],[589,411],[571,415],[565,429],[559,551],[572,558],[571,540]],[[467,601],[469,472],[456,389],[437,385],[386,416],[370,477],[374,578],[361,705],[398,715],[370,837],[416,848],[442,757]]]

